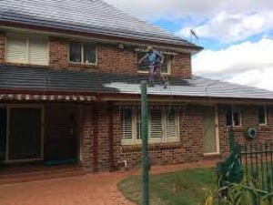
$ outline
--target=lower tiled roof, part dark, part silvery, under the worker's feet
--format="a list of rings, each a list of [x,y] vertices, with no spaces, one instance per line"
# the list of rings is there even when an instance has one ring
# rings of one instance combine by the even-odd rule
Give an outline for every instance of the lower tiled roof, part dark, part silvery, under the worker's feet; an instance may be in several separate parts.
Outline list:
[[[65,91],[86,93],[140,94],[140,82],[147,76],[89,73],[84,71],[56,70],[36,67],[0,66],[0,90]],[[231,97],[273,99],[273,92],[255,87],[238,86],[218,80],[194,77],[169,77],[170,86],[148,87],[149,95],[162,98]],[[16,92],[16,91],[15,91]]]

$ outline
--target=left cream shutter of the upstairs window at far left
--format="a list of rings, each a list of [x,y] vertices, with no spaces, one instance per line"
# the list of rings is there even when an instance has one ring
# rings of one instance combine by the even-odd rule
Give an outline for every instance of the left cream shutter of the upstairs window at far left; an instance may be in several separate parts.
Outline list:
[[[10,63],[25,64],[27,62],[26,48],[25,36],[7,36],[6,61]]]

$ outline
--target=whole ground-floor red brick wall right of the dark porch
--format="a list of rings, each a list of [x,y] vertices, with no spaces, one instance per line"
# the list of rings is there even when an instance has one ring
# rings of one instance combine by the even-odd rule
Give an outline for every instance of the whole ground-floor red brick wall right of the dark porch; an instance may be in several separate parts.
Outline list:
[[[226,126],[227,106],[218,107],[219,118],[219,138],[220,156],[204,156],[202,143],[202,107],[187,106],[181,108],[179,113],[180,141],[150,144],[149,158],[153,165],[177,164],[201,159],[225,157],[228,150],[227,126]],[[99,170],[109,170],[109,137],[108,137],[108,111],[107,105],[101,104],[98,119],[98,162]],[[140,167],[141,165],[141,145],[121,145],[121,129],[119,108],[114,108],[114,165],[116,169],[124,168],[124,160],[128,168]],[[268,112],[268,126],[258,127],[258,108],[251,106],[242,107],[242,127],[235,128],[236,140],[245,142],[244,131],[248,127],[258,128],[258,139],[272,139],[273,115]]]

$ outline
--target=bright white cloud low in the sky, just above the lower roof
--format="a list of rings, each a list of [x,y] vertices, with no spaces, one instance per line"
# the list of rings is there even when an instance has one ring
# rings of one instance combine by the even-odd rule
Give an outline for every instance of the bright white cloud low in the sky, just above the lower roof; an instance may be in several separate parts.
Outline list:
[[[273,40],[244,42],[219,51],[203,51],[193,58],[197,76],[273,90]]]

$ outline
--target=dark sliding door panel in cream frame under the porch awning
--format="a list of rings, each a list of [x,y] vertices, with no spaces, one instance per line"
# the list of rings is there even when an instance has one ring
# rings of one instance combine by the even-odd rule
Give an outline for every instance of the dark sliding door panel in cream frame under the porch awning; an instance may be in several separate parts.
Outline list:
[[[9,108],[7,161],[42,159],[42,108]]]

